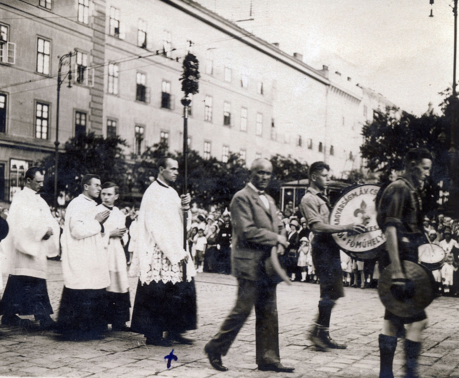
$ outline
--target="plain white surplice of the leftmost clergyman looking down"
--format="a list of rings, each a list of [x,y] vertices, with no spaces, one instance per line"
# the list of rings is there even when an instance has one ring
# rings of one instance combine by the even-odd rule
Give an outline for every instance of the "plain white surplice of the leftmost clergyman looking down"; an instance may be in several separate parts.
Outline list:
[[[5,273],[46,279],[46,257],[59,255],[61,234],[46,201],[34,190],[24,187],[13,197],[6,221],[9,232],[0,244]],[[53,235],[43,240],[48,228]]]

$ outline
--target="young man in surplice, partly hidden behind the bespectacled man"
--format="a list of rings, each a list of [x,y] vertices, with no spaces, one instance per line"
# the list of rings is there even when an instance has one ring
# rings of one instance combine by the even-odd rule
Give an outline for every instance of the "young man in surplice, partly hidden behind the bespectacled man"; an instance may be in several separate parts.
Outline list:
[[[110,210],[110,215],[104,223],[104,238],[109,238],[107,246],[108,269],[110,272],[110,286],[107,287],[107,322],[112,324],[112,331],[130,331],[126,326],[129,322],[128,272],[126,270],[126,255],[123,244],[128,242],[128,233],[125,226],[126,216],[114,206],[119,197],[119,187],[112,182],[102,184],[101,211]]]

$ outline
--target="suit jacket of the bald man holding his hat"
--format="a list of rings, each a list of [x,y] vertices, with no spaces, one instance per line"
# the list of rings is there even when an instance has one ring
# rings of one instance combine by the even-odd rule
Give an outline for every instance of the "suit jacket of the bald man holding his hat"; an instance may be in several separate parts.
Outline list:
[[[237,192],[229,208],[233,239],[232,274],[236,278],[258,281],[263,278],[264,262],[277,245],[280,221],[274,200],[267,194],[269,209],[250,186]]]

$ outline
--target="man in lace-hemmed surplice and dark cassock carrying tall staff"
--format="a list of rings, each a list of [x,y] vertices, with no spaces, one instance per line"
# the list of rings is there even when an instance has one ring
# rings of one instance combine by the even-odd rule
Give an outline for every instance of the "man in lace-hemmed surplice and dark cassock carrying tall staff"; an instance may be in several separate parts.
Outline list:
[[[129,274],[138,276],[131,330],[146,337],[146,344],[190,344],[181,336],[196,329],[196,270],[183,248],[181,199],[174,188],[179,164],[171,158],[158,161],[159,173],[142,198],[137,238]],[[184,267],[186,267],[184,269]],[[186,271],[186,277],[184,277]],[[163,339],[163,331],[168,336]]]

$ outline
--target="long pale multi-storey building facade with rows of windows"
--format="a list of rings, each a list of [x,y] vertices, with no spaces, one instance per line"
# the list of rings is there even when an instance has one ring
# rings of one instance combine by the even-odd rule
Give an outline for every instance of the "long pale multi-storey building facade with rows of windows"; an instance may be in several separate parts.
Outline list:
[[[0,28],[0,200],[53,152],[59,57],[69,52],[60,146],[78,133],[117,134],[129,159],[158,142],[181,149],[188,51],[201,72],[189,144],[204,158],[324,160],[341,177],[361,167],[361,127],[386,105],[190,0],[5,0]]]

